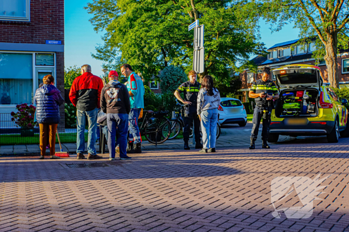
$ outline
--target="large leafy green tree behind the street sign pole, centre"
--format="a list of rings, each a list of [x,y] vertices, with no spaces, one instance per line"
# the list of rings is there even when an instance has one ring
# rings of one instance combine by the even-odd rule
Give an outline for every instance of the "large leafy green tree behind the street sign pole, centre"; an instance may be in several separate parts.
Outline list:
[[[250,6],[253,7],[250,7]],[[229,70],[261,54],[254,3],[230,0],[93,0],[86,9],[104,44],[95,58],[109,68],[131,64],[149,80],[169,65],[192,67],[193,30],[205,25],[205,72],[229,84]],[[241,68],[240,68],[241,69]]]

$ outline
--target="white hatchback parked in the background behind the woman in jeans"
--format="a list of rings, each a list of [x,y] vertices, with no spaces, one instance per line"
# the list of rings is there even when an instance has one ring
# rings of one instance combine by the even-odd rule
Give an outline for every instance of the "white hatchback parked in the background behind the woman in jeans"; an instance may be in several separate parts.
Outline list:
[[[246,126],[247,114],[245,106],[239,99],[231,97],[222,97],[218,106],[219,123],[239,124],[240,127]]]

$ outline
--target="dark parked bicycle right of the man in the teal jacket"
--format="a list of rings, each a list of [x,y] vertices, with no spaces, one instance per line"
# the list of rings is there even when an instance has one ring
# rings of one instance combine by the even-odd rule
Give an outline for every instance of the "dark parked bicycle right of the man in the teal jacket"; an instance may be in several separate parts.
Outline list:
[[[166,118],[169,111],[144,110],[140,125],[141,135],[144,135],[149,143],[158,145],[169,139],[171,134],[170,120]]]

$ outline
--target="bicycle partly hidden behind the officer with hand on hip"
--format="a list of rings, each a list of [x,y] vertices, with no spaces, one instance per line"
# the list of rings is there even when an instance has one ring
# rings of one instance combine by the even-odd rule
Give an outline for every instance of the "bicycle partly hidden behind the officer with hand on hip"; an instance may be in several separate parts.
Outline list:
[[[176,105],[179,105],[180,107],[177,109],[177,111],[175,111],[175,118],[170,120],[171,123],[171,135],[169,137],[169,139],[174,139],[175,137],[178,136],[180,131],[183,131],[183,127],[184,127],[184,120],[182,117],[182,111],[184,110],[184,107],[186,106],[186,104],[181,104],[178,99],[175,99],[175,101],[177,102]],[[201,127],[200,127],[200,133],[202,136],[202,132],[201,132]],[[216,133],[216,138],[218,139],[220,136],[221,130],[220,130],[220,124],[219,122],[217,122],[217,133]],[[190,127],[190,132],[189,132],[189,137],[191,138],[193,136],[193,127]]]

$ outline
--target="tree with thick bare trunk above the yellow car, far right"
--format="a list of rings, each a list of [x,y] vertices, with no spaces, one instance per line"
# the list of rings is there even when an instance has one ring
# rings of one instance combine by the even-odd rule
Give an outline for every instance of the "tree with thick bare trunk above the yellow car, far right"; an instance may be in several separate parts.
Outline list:
[[[337,54],[349,45],[348,0],[261,0],[265,18],[279,30],[294,22],[301,38],[318,37],[317,55],[325,59],[329,82],[339,87]],[[322,48],[322,50],[321,50]]]

